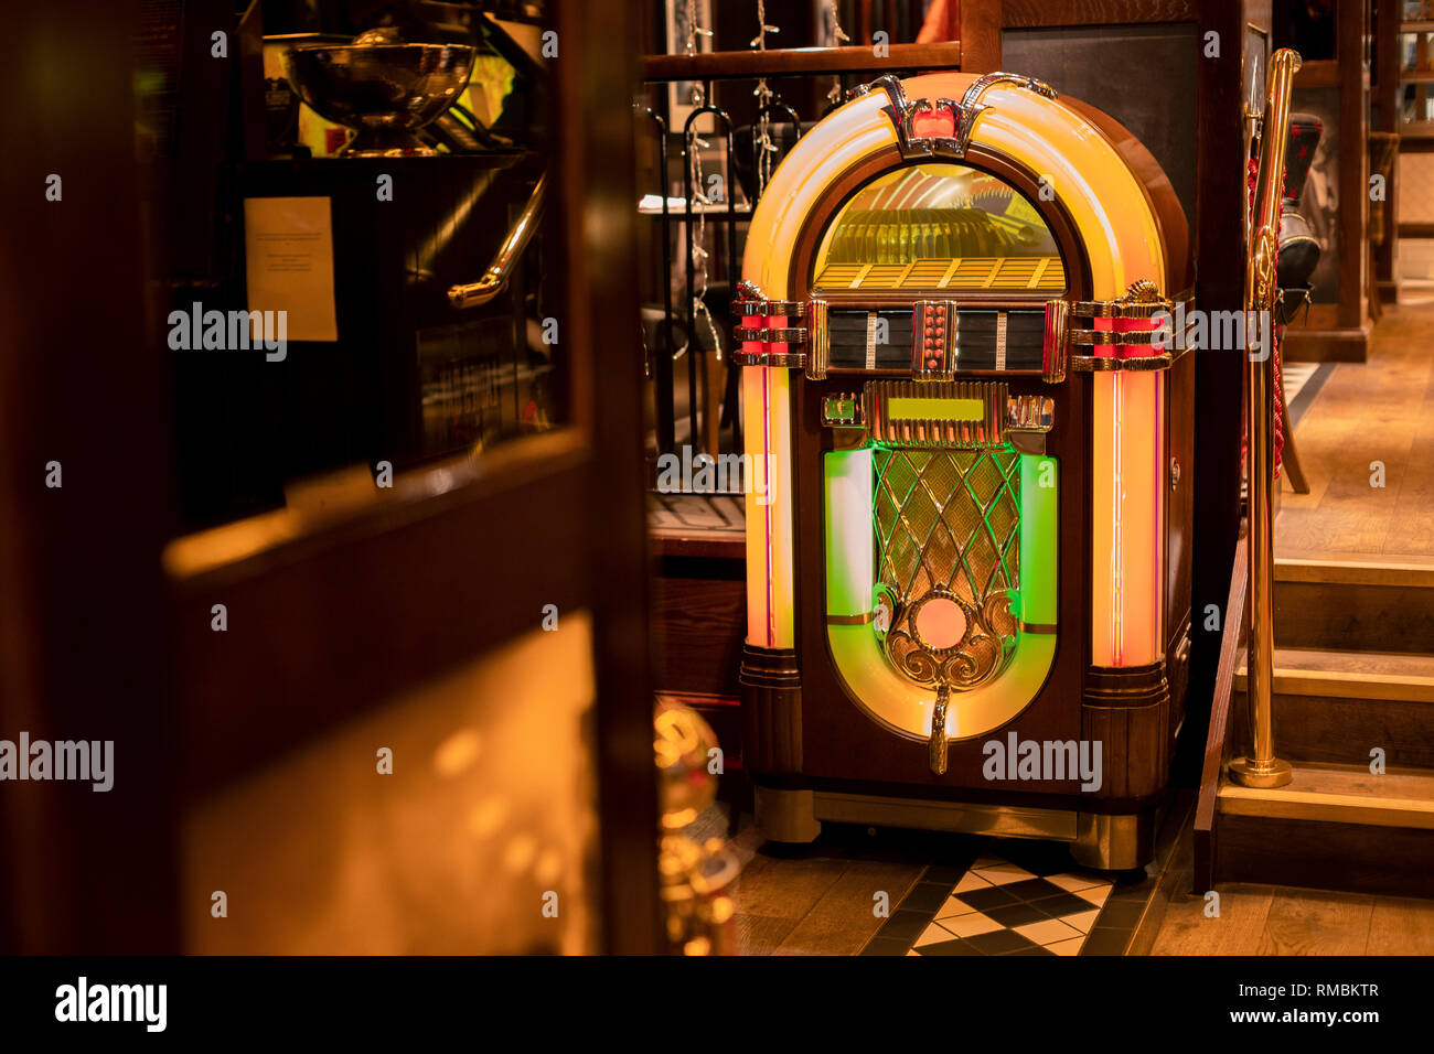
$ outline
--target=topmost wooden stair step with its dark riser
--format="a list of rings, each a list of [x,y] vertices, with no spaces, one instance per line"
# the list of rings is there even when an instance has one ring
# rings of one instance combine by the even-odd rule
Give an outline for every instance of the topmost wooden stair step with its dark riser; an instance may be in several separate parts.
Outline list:
[[[1434,558],[1276,558],[1275,642],[1434,651]]]

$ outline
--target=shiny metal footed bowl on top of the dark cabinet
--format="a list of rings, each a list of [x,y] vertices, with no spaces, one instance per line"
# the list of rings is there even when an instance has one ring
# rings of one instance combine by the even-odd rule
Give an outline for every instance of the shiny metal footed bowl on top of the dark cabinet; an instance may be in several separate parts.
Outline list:
[[[315,113],[354,129],[346,158],[430,156],[414,129],[457,102],[473,70],[465,44],[300,44],[290,83]]]

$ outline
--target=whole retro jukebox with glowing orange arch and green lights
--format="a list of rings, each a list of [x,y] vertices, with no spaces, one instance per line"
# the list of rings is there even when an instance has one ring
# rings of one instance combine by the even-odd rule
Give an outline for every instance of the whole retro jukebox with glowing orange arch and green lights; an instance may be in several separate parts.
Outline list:
[[[734,304],[759,820],[1140,866],[1190,647],[1184,215],[1038,80],[858,92],[774,174]]]

